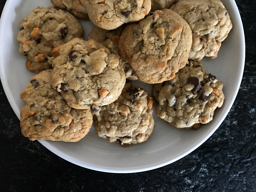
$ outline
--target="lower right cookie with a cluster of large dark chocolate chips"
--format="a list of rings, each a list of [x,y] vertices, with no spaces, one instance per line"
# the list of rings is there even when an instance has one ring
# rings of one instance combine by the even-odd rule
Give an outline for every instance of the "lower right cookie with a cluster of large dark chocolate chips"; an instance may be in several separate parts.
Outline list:
[[[207,74],[202,63],[189,61],[172,80],[154,85],[159,101],[156,114],[176,128],[198,127],[210,122],[222,106],[222,88],[223,83]]]

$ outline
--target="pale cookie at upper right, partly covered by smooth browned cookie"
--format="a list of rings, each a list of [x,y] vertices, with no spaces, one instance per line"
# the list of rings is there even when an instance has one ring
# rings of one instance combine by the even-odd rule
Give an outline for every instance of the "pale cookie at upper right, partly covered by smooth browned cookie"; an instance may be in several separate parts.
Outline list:
[[[192,30],[193,43],[189,59],[200,61],[204,56],[217,57],[221,42],[232,29],[227,10],[219,0],[182,0],[171,10],[184,18]]]

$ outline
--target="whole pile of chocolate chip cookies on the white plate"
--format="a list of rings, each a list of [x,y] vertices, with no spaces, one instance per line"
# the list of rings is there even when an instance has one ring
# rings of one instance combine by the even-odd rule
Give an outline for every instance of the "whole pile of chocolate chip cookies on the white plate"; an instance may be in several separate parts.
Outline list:
[[[39,73],[20,95],[29,139],[76,142],[94,120],[100,137],[130,146],[152,134],[155,101],[157,116],[182,129],[198,129],[222,106],[223,83],[198,62],[216,58],[232,28],[221,1],[51,1],[17,38],[26,68]],[[87,41],[75,16],[96,25]],[[154,84],[154,99],[132,87],[137,79]]]

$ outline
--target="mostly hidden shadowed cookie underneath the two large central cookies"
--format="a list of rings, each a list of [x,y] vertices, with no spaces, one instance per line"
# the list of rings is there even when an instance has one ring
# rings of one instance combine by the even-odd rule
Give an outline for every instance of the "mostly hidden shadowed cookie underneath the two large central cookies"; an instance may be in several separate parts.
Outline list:
[[[131,65],[128,62],[123,61],[118,55],[118,41],[124,28],[125,26],[122,25],[121,27],[110,31],[95,26],[88,34],[87,40],[94,39],[95,41],[105,45],[111,53],[119,58],[119,63],[121,63],[125,72],[125,78],[128,80],[137,80],[138,77]]]

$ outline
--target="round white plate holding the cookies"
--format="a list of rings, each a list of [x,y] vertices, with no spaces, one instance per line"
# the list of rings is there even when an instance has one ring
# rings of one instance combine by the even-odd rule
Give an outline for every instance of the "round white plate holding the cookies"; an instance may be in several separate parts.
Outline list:
[[[47,149],[76,165],[111,173],[133,173],[155,169],[181,159],[205,142],[219,127],[236,98],[244,68],[245,42],[241,17],[234,0],[223,0],[233,23],[227,39],[222,43],[216,59],[202,60],[205,70],[224,82],[225,101],[217,109],[214,119],[194,131],[171,127],[155,115],[155,130],[142,144],[120,147],[97,136],[94,127],[81,141],[76,143],[39,141]],[[18,53],[17,33],[19,23],[37,6],[51,5],[50,0],[8,0],[0,21],[0,76],[5,94],[18,118],[24,106],[20,92],[35,75],[26,70],[26,58]],[[84,38],[93,28],[90,21],[81,20]],[[150,94],[152,85],[139,81]]]

